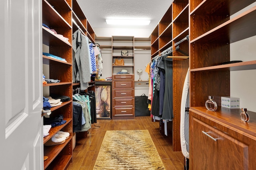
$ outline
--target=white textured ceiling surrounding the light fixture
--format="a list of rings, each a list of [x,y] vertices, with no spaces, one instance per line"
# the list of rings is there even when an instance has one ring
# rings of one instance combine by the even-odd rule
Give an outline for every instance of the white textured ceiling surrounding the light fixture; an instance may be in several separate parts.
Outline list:
[[[150,29],[154,30],[172,0],[77,0],[96,35],[100,29]],[[150,25],[107,25],[106,19],[146,19]],[[172,20],[172,19],[170,19]],[[148,35],[149,36],[149,35]]]

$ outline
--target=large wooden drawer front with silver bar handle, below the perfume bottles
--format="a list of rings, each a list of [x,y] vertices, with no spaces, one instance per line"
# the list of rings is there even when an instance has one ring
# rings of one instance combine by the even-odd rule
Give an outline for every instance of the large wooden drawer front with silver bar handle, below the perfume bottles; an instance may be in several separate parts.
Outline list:
[[[190,167],[198,169],[255,169],[256,138],[190,111]],[[207,116],[207,115],[206,115]],[[231,128],[231,129],[230,129]],[[228,158],[228,163],[226,162]],[[211,160],[204,162],[202,160]],[[230,168],[232,165],[232,168]]]

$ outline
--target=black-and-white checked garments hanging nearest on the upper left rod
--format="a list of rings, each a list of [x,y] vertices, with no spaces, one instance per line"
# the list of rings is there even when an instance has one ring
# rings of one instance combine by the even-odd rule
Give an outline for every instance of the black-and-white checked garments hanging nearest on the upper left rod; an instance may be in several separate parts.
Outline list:
[[[88,38],[79,29],[75,31],[72,40],[72,76],[73,83],[80,81],[81,90],[86,90],[91,81],[88,46]]]

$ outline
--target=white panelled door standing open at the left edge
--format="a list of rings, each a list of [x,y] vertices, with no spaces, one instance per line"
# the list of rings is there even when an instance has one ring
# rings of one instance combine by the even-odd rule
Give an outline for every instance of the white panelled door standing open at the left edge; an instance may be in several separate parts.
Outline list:
[[[41,0],[1,0],[1,170],[43,169],[41,8]]]

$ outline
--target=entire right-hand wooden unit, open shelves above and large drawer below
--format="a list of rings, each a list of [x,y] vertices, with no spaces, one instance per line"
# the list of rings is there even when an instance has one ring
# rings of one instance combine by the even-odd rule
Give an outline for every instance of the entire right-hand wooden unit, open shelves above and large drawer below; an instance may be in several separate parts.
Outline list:
[[[230,72],[256,69],[255,60],[222,64],[232,60],[230,44],[256,35],[255,6],[230,18],[253,2],[190,0],[190,167],[194,170],[255,169],[255,113],[250,112],[250,122],[244,123],[241,109],[221,107],[221,96],[231,95]],[[209,95],[218,104],[216,111],[204,106]]]

